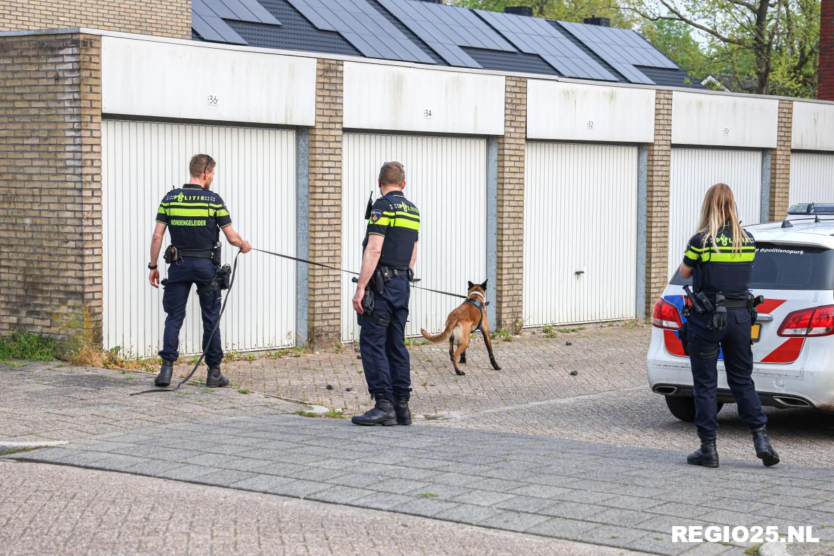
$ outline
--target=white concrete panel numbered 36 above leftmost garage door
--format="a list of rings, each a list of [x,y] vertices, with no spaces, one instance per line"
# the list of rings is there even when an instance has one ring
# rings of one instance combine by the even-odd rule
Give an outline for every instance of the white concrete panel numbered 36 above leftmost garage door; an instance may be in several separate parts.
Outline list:
[[[102,112],[312,126],[314,58],[102,38]]]

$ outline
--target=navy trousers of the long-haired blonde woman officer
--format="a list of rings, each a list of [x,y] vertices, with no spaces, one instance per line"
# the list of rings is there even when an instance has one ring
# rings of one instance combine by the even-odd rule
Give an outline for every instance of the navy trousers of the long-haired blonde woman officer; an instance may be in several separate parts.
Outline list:
[[[714,438],[718,431],[718,351],[724,353],[727,385],[738,404],[741,419],[750,428],[767,423],[761,399],[753,384],[751,317],[746,308],[727,309],[727,326],[721,331],[707,329],[711,317],[689,318],[687,348],[695,393],[695,424],[702,436]]]

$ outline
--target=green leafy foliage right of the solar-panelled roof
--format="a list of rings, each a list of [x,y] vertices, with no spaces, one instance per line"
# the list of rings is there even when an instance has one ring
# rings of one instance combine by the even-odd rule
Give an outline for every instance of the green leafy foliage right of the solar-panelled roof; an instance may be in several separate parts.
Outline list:
[[[620,0],[620,6],[643,18],[646,38],[681,68],[720,83],[709,88],[816,96],[819,0]]]

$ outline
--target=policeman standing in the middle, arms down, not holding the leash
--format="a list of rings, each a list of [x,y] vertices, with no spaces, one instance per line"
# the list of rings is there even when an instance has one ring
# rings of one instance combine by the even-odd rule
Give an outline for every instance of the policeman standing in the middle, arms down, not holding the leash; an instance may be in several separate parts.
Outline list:
[[[405,348],[409,273],[417,261],[420,212],[403,195],[405,170],[397,162],[379,170],[379,193],[368,219],[362,268],[354,294],[361,315],[359,352],[373,409],[351,421],[359,425],[409,425],[411,376]],[[365,290],[369,293],[366,296]]]

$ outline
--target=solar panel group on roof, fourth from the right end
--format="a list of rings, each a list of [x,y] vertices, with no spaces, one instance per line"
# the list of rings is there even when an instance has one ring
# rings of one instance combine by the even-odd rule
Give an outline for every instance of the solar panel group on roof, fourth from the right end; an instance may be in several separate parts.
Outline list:
[[[340,33],[368,58],[435,63],[365,0],[289,0],[289,3],[316,28]]]

